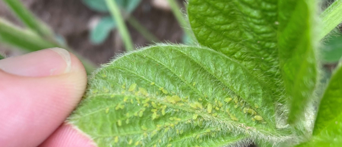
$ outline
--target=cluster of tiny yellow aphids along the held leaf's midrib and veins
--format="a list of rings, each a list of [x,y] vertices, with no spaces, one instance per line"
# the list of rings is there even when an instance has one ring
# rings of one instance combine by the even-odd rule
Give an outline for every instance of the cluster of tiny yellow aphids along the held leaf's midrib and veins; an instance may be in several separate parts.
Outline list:
[[[150,85],[155,85],[154,82],[150,83]],[[196,85],[196,82],[194,82],[193,86]],[[124,83],[121,86],[123,90],[122,93],[126,93],[126,83]],[[194,111],[194,115],[192,115],[190,118],[177,118],[177,117],[170,117],[169,120],[170,122],[165,122],[164,124],[157,124],[156,128],[150,128],[152,130],[150,130],[147,126],[142,125],[141,126],[141,130],[149,132],[149,136],[147,135],[147,133],[144,133],[144,137],[154,137],[158,131],[161,131],[165,134],[167,133],[170,129],[175,129],[175,126],[178,125],[178,123],[191,123],[194,124],[195,126],[202,126],[204,118],[202,118],[203,116],[200,116],[199,114],[207,114],[207,116],[211,116],[211,117],[222,117],[222,112],[227,114],[227,116],[229,116],[229,118],[233,121],[239,121],[238,118],[236,117],[235,114],[231,114],[229,111],[229,108],[227,108],[226,110],[223,109],[223,103],[217,99],[215,99],[215,102],[210,103],[207,102],[205,104],[205,106],[203,106],[203,104],[201,102],[198,101],[193,101],[193,102],[189,102],[188,97],[184,97],[184,98],[180,98],[178,95],[169,95],[169,94],[174,94],[173,92],[169,93],[166,89],[164,89],[163,87],[160,87],[159,90],[161,93],[167,95],[165,96],[164,100],[157,100],[155,98],[151,99],[147,96],[149,96],[148,92],[146,89],[139,87],[138,90],[137,89],[137,84],[133,83],[129,86],[128,88],[128,92],[132,92],[134,93],[135,97],[133,98],[132,96],[124,96],[123,101],[119,102],[116,106],[115,109],[124,109],[125,107],[125,103],[129,102],[131,104],[137,103],[138,105],[142,105],[142,108],[140,109],[140,111],[135,112],[134,114],[126,114],[127,118],[126,120],[118,120],[117,121],[117,125],[118,126],[122,126],[123,122],[125,121],[126,124],[129,124],[129,118],[132,116],[136,116],[136,117],[142,117],[144,115],[144,113],[146,112],[146,108],[150,109],[150,113],[151,115],[148,115],[151,117],[151,120],[155,120],[158,119],[161,116],[165,116],[166,115],[166,109],[168,106],[170,106],[170,110],[169,111],[175,111],[178,112],[179,109],[175,108],[175,107],[189,107],[192,108]],[[104,89],[105,90],[105,89]],[[107,90],[105,90],[107,91]],[[93,91],[93,92],[97,92],[97,91]],[[157,93],[158,95],[158,93]],[[115,95],[111,95],[111,98],[115,97]],[[202,99],[199,99],[200,101],[202,101]],[[239,106],[244,106],[244,108],[242,109],[244,114],[249,114],[250,116],[252,116],[252,121],[257,121],[257,122],[263,122],[263,119],[261,116],[257,115],[257,112],[249,107],[246,107],[246,102],[244,102],[243,100],[239,100],[238,97],[227,97],[224,99],[225,103],[230,103],[230,102],[234,102],[235,103],[235,108],[238,108]],[[255,108],[258,108],[257,105],[255,105]],[[108,114],[109,113],[109,108],[105,109],[105,113]],[[220,116],[220,115],[221,116]],[[218,131],[218,130],[217,130]],[[175,130],[176,134],[182,134],[184,131],[177,129]],[[204,133],[202,135],[208,135],[211,134],[211,136],[216,135],[216,132],[212,132],[212,130],[207,129],[206,130],[207,133]],[[135,141],[134,145],[142,145],[142,140],[144,139],[144,137],[142,137],[140,140]],[[200,134],[197,134],[196,136],[193,136],[195,138],[199,138]],[[171,139],[171,138],[170,138]],[[119,141],[119,137],[116,136],[114,138],[114,142],[118,142]],[[199,140],[201,142],[201,140]],[[128,141],[128,144],[132,144],[134,141],[132,139],[130,139]],[[162,140],[159,139],[159,142],[156,142],[156,144],[154,144],[154,146],[157,146],[157,144],[162,143]],[[171,146],[172,144],[168,144],[167,146]]]

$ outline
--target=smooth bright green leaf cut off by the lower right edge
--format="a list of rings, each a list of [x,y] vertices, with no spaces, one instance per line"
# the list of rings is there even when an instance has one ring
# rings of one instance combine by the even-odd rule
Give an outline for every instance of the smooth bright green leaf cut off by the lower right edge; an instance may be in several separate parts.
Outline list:
[[[342,67],[335,69],[316,118],[313,137],[299,146],[340,146],[342,144]]]

